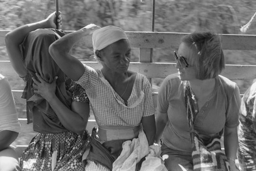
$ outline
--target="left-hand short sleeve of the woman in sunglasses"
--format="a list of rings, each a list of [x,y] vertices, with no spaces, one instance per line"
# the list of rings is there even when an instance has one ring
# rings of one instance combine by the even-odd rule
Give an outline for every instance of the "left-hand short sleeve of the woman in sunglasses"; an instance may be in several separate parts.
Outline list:
[[[159,113],[167,113],[168,110],[168,96],[169,96],[169,91],[171,90],[171,84],[170,84],[170,79],[166,77],[158,91],[158,100],[157,100],[157,111]]]

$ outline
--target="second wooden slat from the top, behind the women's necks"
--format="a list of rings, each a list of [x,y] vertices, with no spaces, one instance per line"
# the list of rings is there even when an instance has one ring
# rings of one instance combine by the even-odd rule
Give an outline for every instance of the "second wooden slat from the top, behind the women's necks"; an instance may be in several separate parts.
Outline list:
[[[102,68],[101,64],[97,62],[83,63],[94,69]],[[148,78],[165,78],[167,75],[177,73],[175,63],[131,62],[129,70],[141,73]],[[0,61],[0,73],[6,77],[17,75],[9,61]],[[229,79],[253,79],[256,78],[256,66],[226,65],[226,69],[221,75]]]

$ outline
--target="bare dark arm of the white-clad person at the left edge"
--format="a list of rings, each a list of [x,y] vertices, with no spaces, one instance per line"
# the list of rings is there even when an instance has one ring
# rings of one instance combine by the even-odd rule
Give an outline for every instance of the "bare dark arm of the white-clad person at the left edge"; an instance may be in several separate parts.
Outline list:
[[[18,133],[14,131],[4,130],[0,132],[0,151],[8,148],[10,144],[18,137]]]

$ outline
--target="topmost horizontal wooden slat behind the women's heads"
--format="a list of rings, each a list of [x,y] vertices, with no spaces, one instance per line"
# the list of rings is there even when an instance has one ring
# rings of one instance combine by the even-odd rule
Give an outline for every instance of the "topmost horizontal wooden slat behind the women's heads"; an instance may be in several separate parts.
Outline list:
[[[5,35],[9,30],[0,31],[0,46],[5,46]],[[73,31],[65,31],[70,33]],[[188,33],[126,32],[133,48],[178,48],[180,38]],[[256,50],[256,35],[221,34],[223,49]],[[77,46],[92,47],[91,36],[84,37]]]

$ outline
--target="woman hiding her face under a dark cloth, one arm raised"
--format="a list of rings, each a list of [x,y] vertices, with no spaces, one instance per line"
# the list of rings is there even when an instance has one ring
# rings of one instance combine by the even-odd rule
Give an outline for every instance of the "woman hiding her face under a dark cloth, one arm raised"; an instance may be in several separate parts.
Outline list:
[[[5,37],[12,66],[26,82],[28,122],[38,132],[20,158],[22,170],[83,170],[82,154],[90,144],[89,99],[49,54],[52,42],[64,35],[55,19],[54,12]]]

